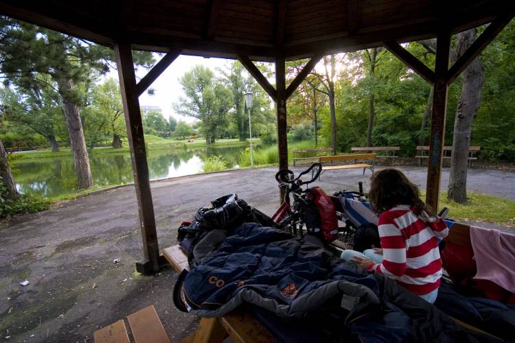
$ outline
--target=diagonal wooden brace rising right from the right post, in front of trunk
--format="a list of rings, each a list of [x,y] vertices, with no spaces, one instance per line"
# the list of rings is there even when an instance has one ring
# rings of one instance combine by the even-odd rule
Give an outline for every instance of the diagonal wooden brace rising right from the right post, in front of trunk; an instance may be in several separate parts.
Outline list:
[[[490,42],[496,38],[496,36],[503,30],[503,28],[510,23],[514,16],[513,12],[503,13],[488,25],[483,33],[468,47],[467,51],[458,58],[458,60],[450,67],[447,78],[448,83],[452,83],[458,75],[468,67],[470,63],[481,54],[481,51],[488,47]]]

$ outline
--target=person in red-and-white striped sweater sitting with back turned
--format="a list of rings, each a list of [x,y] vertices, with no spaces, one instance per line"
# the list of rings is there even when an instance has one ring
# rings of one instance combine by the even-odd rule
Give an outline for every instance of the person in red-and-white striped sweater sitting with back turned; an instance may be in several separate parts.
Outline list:
[[[420,200],[418,187],[397,169],[383,169],[371,177],[369,199],[374,210],[381,212],[381,248],[363,254],[345,250],[341,258],[395,279],[434,303],[442,277],[438,242],[448,234],[444,220]]]

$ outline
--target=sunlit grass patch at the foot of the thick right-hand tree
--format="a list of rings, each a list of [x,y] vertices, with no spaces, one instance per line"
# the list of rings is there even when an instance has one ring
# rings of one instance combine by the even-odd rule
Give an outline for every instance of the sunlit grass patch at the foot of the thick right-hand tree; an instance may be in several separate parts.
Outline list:
[[[515,201],[481,193],[468,193],[467,204],[447,200],[447,193],[440,194],[440,208],[449,209],[448,217],[467,222],[491,222],[515,228]]]

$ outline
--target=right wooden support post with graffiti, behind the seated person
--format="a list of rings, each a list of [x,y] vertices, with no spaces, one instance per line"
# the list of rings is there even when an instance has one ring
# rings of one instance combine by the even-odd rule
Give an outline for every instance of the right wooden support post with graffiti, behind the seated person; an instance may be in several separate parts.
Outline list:
[[[438,211],[440,178],[442,174],[442,152],[445,140],[445,120],[447,114],[447,95],[450,51],[450,31],[437,35],[435,85],[433,92],[433,114],[431,117],[431,141],[427,163],[426,204]]]

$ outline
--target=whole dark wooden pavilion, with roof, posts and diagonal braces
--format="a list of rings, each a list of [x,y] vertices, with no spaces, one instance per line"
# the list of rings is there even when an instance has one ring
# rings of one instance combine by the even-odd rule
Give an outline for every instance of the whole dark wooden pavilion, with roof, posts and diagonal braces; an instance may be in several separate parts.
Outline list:
[[[275,102],[279,169],[288,167],[286,99],[322,56],[384,45],[433,84],[426,202],[438,207],[448,85],[515,15],[504,0],[2,0],[0,13],[113,47],[124,103],[139,220],[140,272],[161,263],[138,97],[181,54],[238,59]],[[452,34],[490,23],[449,67]],[[437,38],[435,70],[400,43]],[[131,49],[165,52],[136,82]],[[285,61],[310,58],[288,86]],[[252,61],[275,62],[275,87]]]

